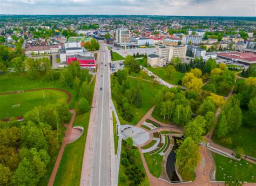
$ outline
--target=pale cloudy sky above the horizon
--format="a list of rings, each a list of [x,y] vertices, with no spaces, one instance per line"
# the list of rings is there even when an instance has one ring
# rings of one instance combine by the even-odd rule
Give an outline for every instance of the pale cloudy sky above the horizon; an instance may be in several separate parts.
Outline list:
[[[256,16],[256,0],[0,0],[0,14]]]

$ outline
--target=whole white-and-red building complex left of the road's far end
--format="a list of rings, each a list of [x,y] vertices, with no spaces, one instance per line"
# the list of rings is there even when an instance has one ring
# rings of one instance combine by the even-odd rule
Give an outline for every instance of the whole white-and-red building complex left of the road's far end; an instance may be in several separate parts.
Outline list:
[[[78,61],[82,68],[96,68],[95,57],[79,42],[66,42],[63,49],[59,49],[61,63],[70,64],[71,61]]]

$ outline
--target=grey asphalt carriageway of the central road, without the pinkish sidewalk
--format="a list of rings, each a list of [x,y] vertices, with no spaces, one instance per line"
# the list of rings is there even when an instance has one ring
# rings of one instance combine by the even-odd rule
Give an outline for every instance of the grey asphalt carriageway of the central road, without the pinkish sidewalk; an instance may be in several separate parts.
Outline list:
[[[99,91],[96,99],[96,123],[94,150],[92,153],[92,175],[90,185],[111,185],[110,112],[109,112],[109,61],[106,47],[100,43],[102,56],[99,66]],[[101,64],[103,63],[103,64]],[[106,66],[105,66],[106,65]],[[100,90],[102,88],[102,90]]]

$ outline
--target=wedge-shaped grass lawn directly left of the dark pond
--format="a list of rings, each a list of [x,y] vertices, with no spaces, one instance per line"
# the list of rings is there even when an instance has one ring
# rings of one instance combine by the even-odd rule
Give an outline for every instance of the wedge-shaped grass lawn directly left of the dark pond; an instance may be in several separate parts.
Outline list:
[[[147,162],[147,167],[149,167],[150,173],[155,177],[160,177],[162,171],[162,161],[163,156],[159,154],[144,153],[145,160]]]

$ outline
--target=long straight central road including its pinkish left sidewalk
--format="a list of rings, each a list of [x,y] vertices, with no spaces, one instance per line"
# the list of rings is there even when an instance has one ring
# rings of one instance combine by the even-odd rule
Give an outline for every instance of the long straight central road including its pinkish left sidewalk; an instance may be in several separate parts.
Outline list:
[[[100,43],[91,118],[86,137],[80,185],[114,185],[114,147],[110,109],[110,53]]]

